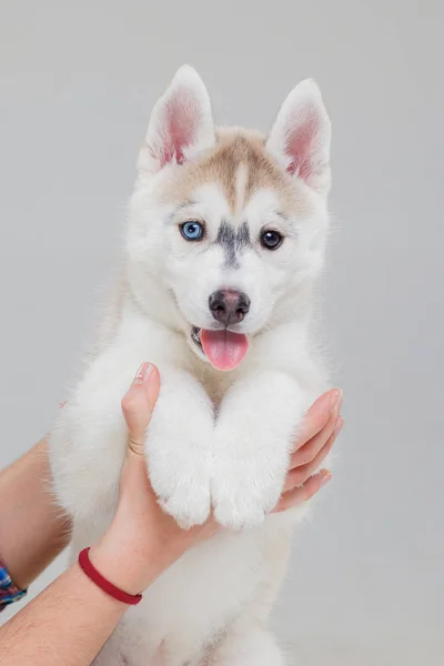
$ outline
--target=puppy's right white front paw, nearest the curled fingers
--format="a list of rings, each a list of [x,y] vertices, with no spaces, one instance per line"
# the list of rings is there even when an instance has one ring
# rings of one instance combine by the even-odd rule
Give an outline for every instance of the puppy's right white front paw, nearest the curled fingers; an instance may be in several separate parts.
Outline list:
[[[239,442],[238,451],[225,448],[211,481],[214,517],[233,529],[261,525],[281,496],[287,456],[269,451],[266,457],[258,457],[254,447],[243,454]]]

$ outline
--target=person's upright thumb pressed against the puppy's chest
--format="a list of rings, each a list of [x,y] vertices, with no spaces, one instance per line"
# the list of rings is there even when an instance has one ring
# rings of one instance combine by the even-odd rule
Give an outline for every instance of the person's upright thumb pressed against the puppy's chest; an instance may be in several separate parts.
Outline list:
[[[144,362],[122,400],[122,412],[129,431],[128,453],[142,460],[144,460],[147,428],[158,400],[159,389],[158,369]]]

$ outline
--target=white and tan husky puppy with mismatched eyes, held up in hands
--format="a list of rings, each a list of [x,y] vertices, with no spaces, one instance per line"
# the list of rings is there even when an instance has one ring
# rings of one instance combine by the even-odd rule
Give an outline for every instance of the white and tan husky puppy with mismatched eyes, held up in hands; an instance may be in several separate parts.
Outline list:
[[[143,360],[161,393],[147,438],[152,486],[183,527],[225,527],[131,608],[100,666],[280,666],[266,620],[292,526],[270,515],[295,428],[325,389],[311,345],[329,223],[331,125],[316,84],[268,137],[216,129],[182,67],[154,105],[129,204],[121,276],[94,354],[50,442],[73,555],[105,531],[125,453],[120,402]]]

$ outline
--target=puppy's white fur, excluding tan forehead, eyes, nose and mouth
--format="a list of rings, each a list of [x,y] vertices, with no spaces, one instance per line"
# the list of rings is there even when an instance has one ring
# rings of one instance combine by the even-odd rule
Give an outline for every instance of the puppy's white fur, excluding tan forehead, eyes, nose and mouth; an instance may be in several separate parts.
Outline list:
[[[313,90],[305,84],[304,99],[314,94],[319,102]],[[51,437],[54,488],[73,517],[75,555],[100,537],[113,515],[127,437],[120,401],[141,361],[155,363],[161,394],[147,440],[155,493],[182,525],[202,523],[213,505],[222,525],[243,529],[225,529],[176,562],[129,610],[95,664],[280,666],[283,657],[266,618],[285,571],[291,526],[305,507],[266,514],[282,492],[301,416],[324,389],[309,324],[323,260],[325,199],[317,185],[302,183],[315,213],[285,221],[276,216],[278,194],[256,192],[236,211],[239,220],[249,220],[253,235],[266,221],[287,238],[276,252],[246,252],[236,271],[223,266],[220,248],[202,251],[186,243],[178,224],[190,215],[204,219],[211,235],[231,213],[216,183],[200,186],[179,211],[157,196],[179,168],[172,152],[162,163],[162,142],[171,139],[165,103],[180,117],[178,91],[195,113],[179,152],[184,148],[185,160],[199,159],[214,142],[208,93],[198,74],[182,68],[154,108],[142,150],[114,305]],[[292,94],[291,108],[300,93]],[[272,152],[281,150],[289,122],[297,118],[281,111]],[[329,143],[330,134],[315,144],[324,161]],[[239,188],[244,180],[241,171]],[[238,327],[250,336],[249,353],[224,374],[190,339],[192,325],[212,325],[208,299],[221,285],[245,291],[252,301]]]

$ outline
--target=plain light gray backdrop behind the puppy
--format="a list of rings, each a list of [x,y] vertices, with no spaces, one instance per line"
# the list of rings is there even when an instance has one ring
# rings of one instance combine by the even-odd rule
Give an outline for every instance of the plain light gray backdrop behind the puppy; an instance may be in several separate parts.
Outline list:
[[[63,398],[174,70],[196,67],[220,123],[262,129],[300,79],[321,84],[336,228],[323,329],[346,428],[274,617],[309,666],[431,666],[444,649],[443,13],[438,0],[1,2],[0,465]]]

